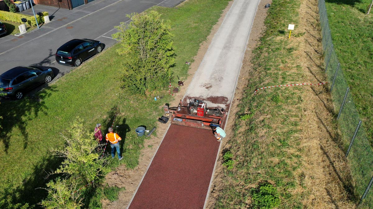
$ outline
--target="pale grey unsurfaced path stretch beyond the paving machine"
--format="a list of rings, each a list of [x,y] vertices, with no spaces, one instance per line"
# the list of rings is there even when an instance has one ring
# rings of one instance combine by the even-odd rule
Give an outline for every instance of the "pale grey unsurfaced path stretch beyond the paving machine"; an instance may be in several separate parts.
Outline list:
[[[235,0],[186,91],[208,107],[228,109],[259,0]]]

